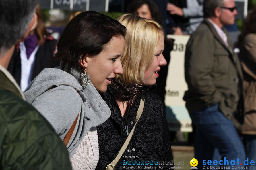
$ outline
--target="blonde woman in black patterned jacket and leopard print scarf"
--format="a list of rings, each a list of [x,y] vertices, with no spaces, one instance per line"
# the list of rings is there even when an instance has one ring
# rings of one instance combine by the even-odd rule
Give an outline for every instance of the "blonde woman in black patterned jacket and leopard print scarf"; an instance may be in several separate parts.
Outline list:
[[[154,165],[159,161],[172,160],[163,104],[160,97],[151,92],[156,88],[154,84],[160,67],[166,65],[162,55],[163,29],[153,20],[132,14],[125,14],[118,21],[127,28],[125,50],[121,56],[123,75],[112,79],[107,92],[102,96],[110,107],[111,116],[97,127],[100,148],[100,159],[96,167],[98,170],[105,169],[123,146],[135,124],[142,95],[145,96],[142,115],[115,169],[123,169],[127,166],[125,164],[129,161],[134,163],[134,160],[140,163],[154,161]],[[132,166],[141,165],[135,163]]]

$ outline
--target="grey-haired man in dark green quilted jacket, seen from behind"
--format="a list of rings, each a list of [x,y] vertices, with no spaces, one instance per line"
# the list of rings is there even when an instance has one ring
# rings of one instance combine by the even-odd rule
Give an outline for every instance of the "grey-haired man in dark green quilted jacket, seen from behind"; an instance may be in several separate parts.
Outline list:
[[[6,70],[15,44],[33,28],[36,0],[0,3],[0,169],[72,169],[64,143],[26,103]]]

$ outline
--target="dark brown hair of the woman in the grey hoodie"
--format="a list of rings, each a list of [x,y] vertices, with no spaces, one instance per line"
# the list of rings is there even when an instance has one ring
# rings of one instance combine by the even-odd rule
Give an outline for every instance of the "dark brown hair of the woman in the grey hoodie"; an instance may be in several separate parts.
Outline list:
[[[82,72],[81,57],[83,59],[86,54],[95,56],[113,36],[125,35],[125,26],[117,20],[95,11],[82,12],[63,30],[54,59],[59,59],[61,67],[67,67],[68,71],[72,68]]]

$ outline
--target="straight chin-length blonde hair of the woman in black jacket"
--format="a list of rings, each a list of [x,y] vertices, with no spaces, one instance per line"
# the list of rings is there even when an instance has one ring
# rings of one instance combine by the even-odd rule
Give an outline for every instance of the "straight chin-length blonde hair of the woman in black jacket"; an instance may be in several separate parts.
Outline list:
[[[121,56],[123,80],[129,84],[144,83],[145,70],[152,65],[162,26],[158,22],[133,14],[117,19],[127,29],[125,49]]]

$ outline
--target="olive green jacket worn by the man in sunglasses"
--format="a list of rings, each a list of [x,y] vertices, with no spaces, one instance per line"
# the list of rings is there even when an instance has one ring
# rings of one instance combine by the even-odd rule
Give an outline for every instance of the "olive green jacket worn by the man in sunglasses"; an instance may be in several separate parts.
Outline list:
[[[185,52],[188,90],[183,99],[190,114],[219,104],[226,118],[234,116],[242,124],[243,75],[230,37],[225,29],[223,31],[228,37],[229,47],[207,19],[191,35]]]

